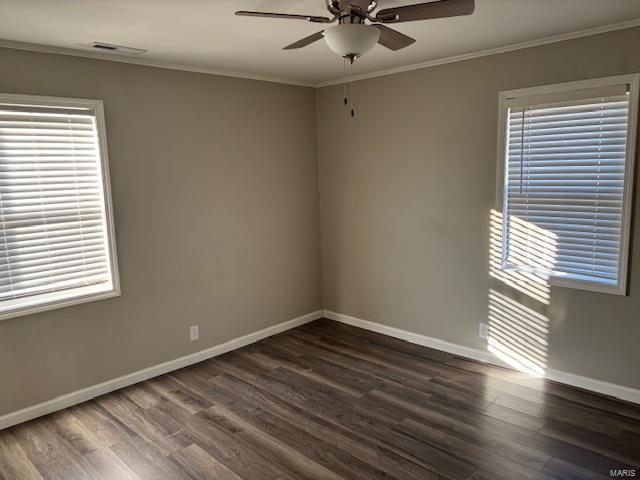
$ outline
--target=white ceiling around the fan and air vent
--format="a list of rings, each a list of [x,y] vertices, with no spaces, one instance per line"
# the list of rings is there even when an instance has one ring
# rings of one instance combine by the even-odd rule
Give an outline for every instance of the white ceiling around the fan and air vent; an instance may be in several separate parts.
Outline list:
[[[420,1],[379,0],[381,8],[412,3]],[[294,83],[342,75],[342,60],[322,41],[282,50],[322,25],[236,17],[238,9],[327,15],[324,0],[0,0],[0,39],[79,50],[101,41],[148,50],[133,57],[141,62]],[[637,19],[640,0],[476,0],[471,16],[393,25],[417,42],[398,52],[377,46],[357,62],[355,73]]]

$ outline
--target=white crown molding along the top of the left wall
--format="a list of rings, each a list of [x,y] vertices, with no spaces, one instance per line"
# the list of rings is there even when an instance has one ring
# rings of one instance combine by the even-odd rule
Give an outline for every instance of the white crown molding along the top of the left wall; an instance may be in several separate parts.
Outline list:
[[[267,75],[256,75],[252,73],[232,72],[228,70],[219,70],[217,68],[192,67],[189,65],[147,60],[139,57],[127,57],[115,53],[90,52],[85,50],[76,50],[73,48],[53,47],[48,45],[14,42],[11,40],[2,39],[0,39],[0,47],[11,48],[14,50],[26,50],[28,52],[52,53],[56,55],[67,55],[71,57],[92,58],[94,60],[106,60],[108,62],[129,63],[134,65],[142,65],[145,67],[166,68],[169,70],[180,70],[184,72],[205,73],[208,75],[219,75],[222,77],[243,78],[245,80],[258,80],[260,82],[284,83],[286,85],[295,85],[298,87],[315,87],[315,84],[313,83],[298,82],[296,80],[286,78],[270,77]]]

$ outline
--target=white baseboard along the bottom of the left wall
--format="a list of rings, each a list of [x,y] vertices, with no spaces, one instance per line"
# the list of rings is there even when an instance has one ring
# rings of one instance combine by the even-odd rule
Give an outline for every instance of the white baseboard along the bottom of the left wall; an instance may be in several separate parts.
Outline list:
[[[0,430],[11,427],[13,425],[17,425],[22,422],[26,422],[28,420],[32,420],[37,417],[41,417],[43,415],[47,415],[49,413],[56,412],[58,410],[71,407],[73,405],[77,405],[82,402],[86,402],[88,400],[91,400],[92,398],[104,395],[105,393],[113,392],[114,390],[118,390],[120,388],[128,387],[129,385],[133,385],[134,383],[142,382],[144,380],[148,380],[149,378],[157,377],[159,375],[163,375],[165,373],[172,372],[189,365],[193,365],[194,363],[202,362],[203,360],[222,355],[223,353],[227,353],[231,350],[244,347],[245,345],[257,342],[258,340],[262,340],[263,338],[267,338],[271,335],[284,332],[285,330],[304,325],[305,323],[309,323],[319,318],[322,318],[322,310],[308,313],[301,317],[294,318],[277,325],[273,325],[272,327],[267,327],[263,330],[250,333],[242,337],[234,338],[233,340],[221,343],[220,345],[216,345],[214,347],[207,348],[205,350],[201,350],[184,357],[176,358],[175,360],[160,363],[158,365],[154,365],[143,370],[138,370],[137,372],[133,372],[122,377],[107,380],[106,382],[102,382],[91,387],[76,390],[75,392],[71,392],[66,395],[47,400],[46,402],[42,402],[37,405],[18,410],[17,412],[8,413],[6,415],[0,416]]]

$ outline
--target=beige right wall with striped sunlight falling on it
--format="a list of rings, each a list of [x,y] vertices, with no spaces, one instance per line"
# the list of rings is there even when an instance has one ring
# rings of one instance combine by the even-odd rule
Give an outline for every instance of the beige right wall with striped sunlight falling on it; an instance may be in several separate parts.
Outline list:
[[[319,90],[325,308],[486,348],[494,290],[541,324],[547,368],[640,388],[637,201],[628,297],[552,288],[546,306],[488,275],[498,92],[638,72],[638,45],[634,28],[361,81],[355,119],[341,86]]]

